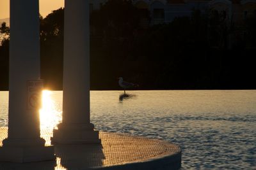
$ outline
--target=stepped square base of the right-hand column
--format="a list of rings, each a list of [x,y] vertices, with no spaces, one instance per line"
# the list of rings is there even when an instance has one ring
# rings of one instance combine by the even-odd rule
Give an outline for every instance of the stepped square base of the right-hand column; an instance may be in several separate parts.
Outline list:
[[[93,124],[59,124],[53,130],[51,144],[92,144],[101,143],[99,131]]]

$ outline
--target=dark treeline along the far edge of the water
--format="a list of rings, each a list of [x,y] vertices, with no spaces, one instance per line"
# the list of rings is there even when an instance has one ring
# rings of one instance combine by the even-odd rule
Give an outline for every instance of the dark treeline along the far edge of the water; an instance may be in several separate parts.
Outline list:
[[[41,76],[45,87],[61,89],[63,13],[40,18]],[[218,11],[175,18],[170,24],[141,27],[149,12],[130,1],[110,0],[90,15],[92,90],[118,89],[117,78],[139,89],[255,89],[256,18],[243,25]],[[8,35],[0,46],[0,88],[8,87]]]

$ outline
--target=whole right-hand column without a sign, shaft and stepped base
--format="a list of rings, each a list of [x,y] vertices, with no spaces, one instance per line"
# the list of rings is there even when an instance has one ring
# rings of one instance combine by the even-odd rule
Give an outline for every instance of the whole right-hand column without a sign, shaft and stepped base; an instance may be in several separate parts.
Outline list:
[[[65,0],[63,120],[52,143],[100,143],[90,123],[89,1]]]

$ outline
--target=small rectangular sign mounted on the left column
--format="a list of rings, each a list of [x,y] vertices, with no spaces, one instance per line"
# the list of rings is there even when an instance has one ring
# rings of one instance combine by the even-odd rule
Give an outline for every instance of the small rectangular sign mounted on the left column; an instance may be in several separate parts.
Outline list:
[[[28,99],[27,108],[28,110],[39,110],[42,102],[42,90],[44,88],[43,80],[28,80]]]

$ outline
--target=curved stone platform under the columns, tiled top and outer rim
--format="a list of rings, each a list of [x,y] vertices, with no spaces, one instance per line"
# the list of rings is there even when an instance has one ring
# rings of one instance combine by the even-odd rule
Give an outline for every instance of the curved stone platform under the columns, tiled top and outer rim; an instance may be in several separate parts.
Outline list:
[[[0,140],[7,137],[0,127]],[[158,139],[100,132],[101,145],[55,145],[56,161],[16,164],[0,162],[0,170],[82,170],[82,169],[179,169],[179,146]],[[43,129],[42,138],[50,145],[52,129]],[[2,145],[2,143],[0,143]]]

